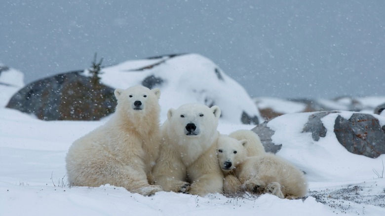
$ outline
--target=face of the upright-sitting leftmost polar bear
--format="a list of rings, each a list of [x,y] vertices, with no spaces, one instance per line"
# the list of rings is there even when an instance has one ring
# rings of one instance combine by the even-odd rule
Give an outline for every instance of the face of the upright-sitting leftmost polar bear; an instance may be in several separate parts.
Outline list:
[[[132,86],[125,90],[116,89],[115,97],[118,105],[129,108],[133,112],[147,112],[158,106],[160,90],[150,90],[144,86]]]

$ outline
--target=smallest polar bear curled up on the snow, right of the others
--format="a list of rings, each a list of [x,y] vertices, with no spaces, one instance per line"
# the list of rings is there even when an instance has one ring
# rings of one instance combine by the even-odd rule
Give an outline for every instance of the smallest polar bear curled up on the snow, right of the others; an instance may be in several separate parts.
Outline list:
[[[304,174],[285,159],[262,152],[248,157],[248,140],[221,136],[218,141],[218,161],[227,175],[224,180],[226,194],[235,195],[244,190],[270,193],[280,198],[303,197],[308,191]],[[234,164],[229,167],[227,164]]]

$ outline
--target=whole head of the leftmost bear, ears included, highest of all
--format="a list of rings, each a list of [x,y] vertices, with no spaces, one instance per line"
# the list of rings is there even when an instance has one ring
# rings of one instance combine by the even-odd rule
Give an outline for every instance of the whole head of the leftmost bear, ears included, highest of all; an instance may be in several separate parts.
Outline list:
[[[158,116],[160,111],[159,97],[160,90],[150,90],[144,86],[136,85],[127,89],[116,89],[117,99],[116,111],[128,114],[129,116],[142,116],[153,113]]]

